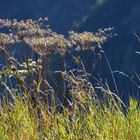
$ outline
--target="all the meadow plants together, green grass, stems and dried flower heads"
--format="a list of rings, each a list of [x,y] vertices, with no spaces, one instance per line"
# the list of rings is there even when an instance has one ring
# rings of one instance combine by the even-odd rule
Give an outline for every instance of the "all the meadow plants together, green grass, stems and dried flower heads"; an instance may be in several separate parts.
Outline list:
[[[139,140],[138,100],[130,98],[126,107],[113,75],[114,92],[94,77],[112,28],[70,31],[65,37],[46,22],[0,20],[0,139]],[[15,48],[21,47],[25,51],[16,57]],[[88,51],[94,52],[91,73],[86,70]],[[73,52],[83,52],[83,59]],[[68,68],[66,55],[76,67]],[[56,56],[62,62],[58,70],[50,67]]]

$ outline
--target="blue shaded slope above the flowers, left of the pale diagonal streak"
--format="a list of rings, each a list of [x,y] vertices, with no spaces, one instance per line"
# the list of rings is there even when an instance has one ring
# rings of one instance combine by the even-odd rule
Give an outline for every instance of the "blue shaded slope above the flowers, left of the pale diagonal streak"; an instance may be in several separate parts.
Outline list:
[[[37,19],[49,17],[49,24],[57,32],[65,33],[74,20],[90,11],[95,0],[1,0],[0,18]]]

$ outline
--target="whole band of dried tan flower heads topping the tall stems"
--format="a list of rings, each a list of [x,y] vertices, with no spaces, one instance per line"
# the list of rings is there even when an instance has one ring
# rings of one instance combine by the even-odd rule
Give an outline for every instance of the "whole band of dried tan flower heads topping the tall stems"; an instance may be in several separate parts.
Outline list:
[[[35,52],[41,56],[47,56],[48,54],[65,54],[70,50],[93,50],[96,46],[104,43],[109,35],[111,28],[102,30],[100,33],[95,34],[90,32],[75,33],[69,32],[68,38],[65,38],[61,34],[53,32],[50,28],[45,26],[47,18],[34,21],[16,19],[0,19],[0,28],[8,28],[9,33],[0,33],[0,44],[2,46],[8,46],[14,43],[24,43],[31,47]],[[47,27],[47,28],[46,28]]]

